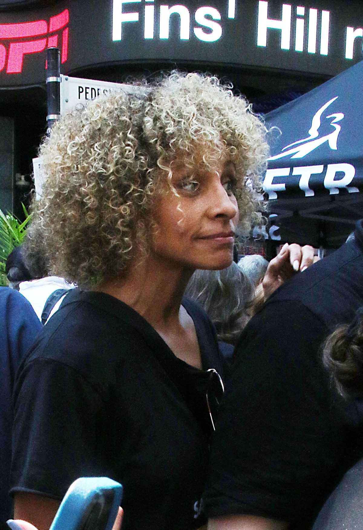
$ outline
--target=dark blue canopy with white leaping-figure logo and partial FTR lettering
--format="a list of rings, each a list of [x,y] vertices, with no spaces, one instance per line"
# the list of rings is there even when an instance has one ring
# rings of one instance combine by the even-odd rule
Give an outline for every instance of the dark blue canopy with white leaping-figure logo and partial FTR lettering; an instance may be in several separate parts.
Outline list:
[[[363,61],[266,114],[270,200],[363,190],[362,81]]]

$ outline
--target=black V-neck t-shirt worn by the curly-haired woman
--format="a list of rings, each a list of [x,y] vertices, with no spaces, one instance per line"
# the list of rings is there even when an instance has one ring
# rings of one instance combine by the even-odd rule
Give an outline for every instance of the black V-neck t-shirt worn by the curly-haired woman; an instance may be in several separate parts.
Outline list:
[[[203,370],[221,373],[213,326],[183,306]],[[203,370],[116,298],[70,292],[17,375],[12,493],[61,499],[79,476],[108,476],[123,484],[124,530],[197,528],[210,436]]]

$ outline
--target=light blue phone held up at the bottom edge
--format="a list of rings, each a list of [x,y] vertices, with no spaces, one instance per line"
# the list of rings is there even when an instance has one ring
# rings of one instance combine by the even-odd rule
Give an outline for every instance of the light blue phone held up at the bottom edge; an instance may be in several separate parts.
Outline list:
[[[49,530],[111,530],[122,486],[106,477],[85,477],[68,488]]]

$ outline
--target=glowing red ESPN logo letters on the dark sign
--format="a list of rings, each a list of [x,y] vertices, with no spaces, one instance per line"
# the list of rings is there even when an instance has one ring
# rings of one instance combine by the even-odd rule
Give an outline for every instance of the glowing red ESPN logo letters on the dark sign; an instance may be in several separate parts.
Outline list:
[[[69,11],[65,9],[49,21],[0,24],[0,72],[6,67],[7,74],[23,71],[24,55],[38,54],[46,48],[58,47],[61,62],[68,57]]]

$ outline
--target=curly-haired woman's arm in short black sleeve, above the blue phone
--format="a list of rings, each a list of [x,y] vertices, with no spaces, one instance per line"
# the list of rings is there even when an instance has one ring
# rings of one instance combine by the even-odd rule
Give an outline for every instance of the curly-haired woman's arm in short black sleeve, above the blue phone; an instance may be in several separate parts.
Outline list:
[[[17,377],[14,403],[15,517],[42,530],[75,479],[105,474],[101,399],[74,368],[36,359]]]

